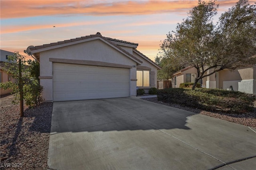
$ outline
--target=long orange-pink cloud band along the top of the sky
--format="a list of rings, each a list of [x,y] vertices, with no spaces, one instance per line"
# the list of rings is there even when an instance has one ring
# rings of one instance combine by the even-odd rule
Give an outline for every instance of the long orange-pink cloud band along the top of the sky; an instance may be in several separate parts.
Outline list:
[[[98,3],[100,2],[100,3]],[[1,19],[53,15],[145,15],[190,9],[197,0],[177,1],[69,1],[1,0]]]

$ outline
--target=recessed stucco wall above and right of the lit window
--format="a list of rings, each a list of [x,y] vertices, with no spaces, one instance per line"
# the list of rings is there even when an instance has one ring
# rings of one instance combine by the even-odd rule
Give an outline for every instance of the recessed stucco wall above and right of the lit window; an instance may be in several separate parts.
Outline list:
[[[140,61],[142,61],[143,63],[140,65],[140,67],[144,66],[144,67],[149,67],[150,70],[150,87],[155,87],[157,88],[157,67],[154,66],[152,63],[148,62],[146,59],[144,59],[143,57],[141,57],[140,55],[138,55],[137,53],[133,53],[132,55],[134,55],[136,58],[138,58]],[[145,69],[148,70],[148,69]]]

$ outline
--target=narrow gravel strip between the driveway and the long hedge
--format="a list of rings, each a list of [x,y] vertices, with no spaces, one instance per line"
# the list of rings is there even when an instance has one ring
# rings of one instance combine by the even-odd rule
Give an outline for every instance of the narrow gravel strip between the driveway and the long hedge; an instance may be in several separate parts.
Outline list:
[[[174,103],[164,103],[162,101],[158,101],[156,97],[143,98],[143,100],[147,100],[147,101],[151,101],[154,103],[159,103],[159,104],[167,105],[167,106],[171,106],[171,107],[176,107],[176,108],[183,109],[186,111],[200,113],[202,115],[206,115],[206,116],[222,119],[225,121],[238,123],[238,124],[245,125],[248,127],[256,128],[256,112],[255,111],[254,111],[254,113],[247,113],[247,114],[213,113],[213,112],[203,111],[200,109],[194,109],[194,108],[190,108],[190,107],[181,106],[181,105],[174,104]]]

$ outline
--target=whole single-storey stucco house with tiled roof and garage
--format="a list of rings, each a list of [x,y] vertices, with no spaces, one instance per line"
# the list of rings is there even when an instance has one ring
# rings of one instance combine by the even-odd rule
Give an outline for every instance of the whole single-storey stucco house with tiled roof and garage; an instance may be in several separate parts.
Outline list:
[[[95,35],[40,46],[27,53],[40,62],[46,101],[136,96],[157,85],[160,67],[136,48],[138,43]]]

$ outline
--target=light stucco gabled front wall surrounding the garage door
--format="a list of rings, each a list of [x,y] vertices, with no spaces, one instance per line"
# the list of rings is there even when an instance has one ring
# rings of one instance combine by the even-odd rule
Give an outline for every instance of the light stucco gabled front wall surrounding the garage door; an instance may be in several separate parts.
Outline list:
[[[44,87],[43,97],[52,101],[52,62],[49,58],[102,61],[122,65],[136,65],[136,62],[101,40],[78,43],[40,53],[40,84]],[[130,79],[136,79],[136,68],[130,69]],[[130,81],[130,96],[136,96],[136,81]]]

